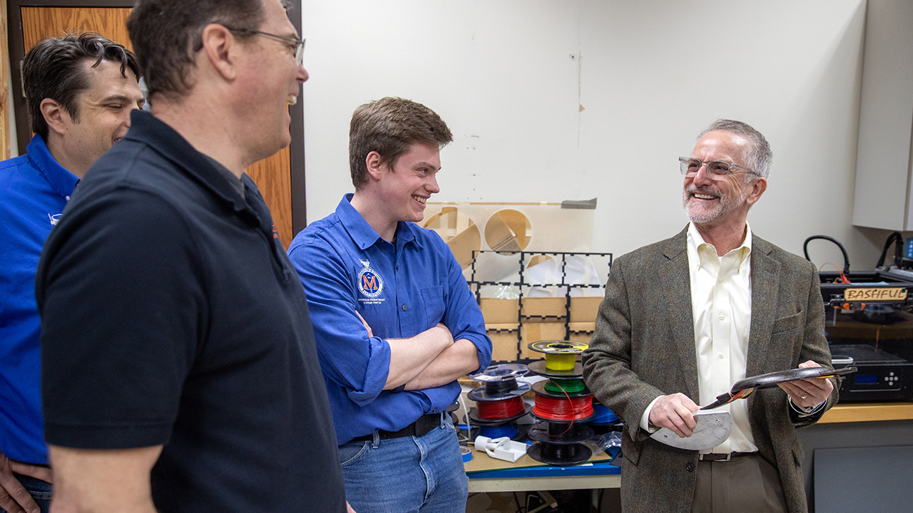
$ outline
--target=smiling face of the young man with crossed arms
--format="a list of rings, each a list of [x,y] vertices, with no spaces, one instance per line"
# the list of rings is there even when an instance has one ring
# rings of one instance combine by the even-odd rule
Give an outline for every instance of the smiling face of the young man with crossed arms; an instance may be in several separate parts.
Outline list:
[[[386,220],[417,223],[425,218],[425,202],[440,191],[436,178],[440,169],[440,151],[425,142],[414,142],[396,162],[382,164],[377,201],[383,205]]]

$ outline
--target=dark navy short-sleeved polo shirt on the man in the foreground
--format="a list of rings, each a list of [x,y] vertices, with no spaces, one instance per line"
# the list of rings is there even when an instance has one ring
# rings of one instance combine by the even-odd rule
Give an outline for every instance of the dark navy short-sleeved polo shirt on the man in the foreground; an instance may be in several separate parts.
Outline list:
[[[131,121],[38,267],[47,443],[163,445],[163,512],[345,511],[304,292],[257,186]]]

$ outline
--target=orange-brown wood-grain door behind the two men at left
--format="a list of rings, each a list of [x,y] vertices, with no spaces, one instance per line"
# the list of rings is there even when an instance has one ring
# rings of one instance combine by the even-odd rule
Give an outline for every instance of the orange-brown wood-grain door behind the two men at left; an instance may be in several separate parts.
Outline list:
[[[35,4],[35,2],[29,2],[29,4]],[[132,49],[126,26],[127,16],[130,16],[130,11],[130,7],[115,6],[64,7],[48,5],[18,7],[18,14],[21,16],[22,22],[21,45],[23,53],[20,56],[24,55],[29,48],[33,47],[43,37],[61,37],[89,30],[98,32],[102,36]],[[13,38],[12,34],[10,38]],[[14,43],[16,42],[18,41],[14,41]],[[18,66],[14,68],[18,68]],[[20,79],[17,78],[16,83]],[[21,88],[21,86],[18,87]],[[26,145],[32,137],[32,133],[28,129],[26,116],[25,109],[16,109],[20,154],[26,152]],[[295,135],[295,133],[292,134],[292,140],[296,139]],[[302,141],[302,139],[299,138],[298,141]],[[272,157],[256,162],[247,168],[247,174],[257,183],[257,187],[269,206],[279,237],[281,237],[282,243],[286,248],[289,247],[294,233],[292,226],[291,160],[289,148],[284,148]],[[303,154],[301,154],[301,161],[303,161]],[[301,189],[300,201],[303,204],[303,183],[301,183]],[[302,223],[299,229],[303,227]]]

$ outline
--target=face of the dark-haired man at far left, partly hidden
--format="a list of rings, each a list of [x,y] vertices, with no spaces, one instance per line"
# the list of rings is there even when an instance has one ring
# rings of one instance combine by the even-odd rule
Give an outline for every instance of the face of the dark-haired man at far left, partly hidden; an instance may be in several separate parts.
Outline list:
[[[94,68],[92,64],[89,60],[83,63],[89,89],[77,96],[77,115],[62,110],[57,125],[65,156],[55,158],[67,162],[69,171],[78,176],[121,140],[130,128],[130,111],[141,109],[145,101],[130,68],[124,68],[124,76],[120,62],[102,60]]]

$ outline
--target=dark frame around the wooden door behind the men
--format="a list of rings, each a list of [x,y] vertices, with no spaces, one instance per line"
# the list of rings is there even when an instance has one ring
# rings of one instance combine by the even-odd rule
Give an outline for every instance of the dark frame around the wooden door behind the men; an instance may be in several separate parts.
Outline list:
[[[193,1],[193,0],[188,0]],[[19,63],[26,55],[22,34],[22,7],[132,7],[131,0],[7,0],[6,18],[8,23],[10,75],[13,83],[13,111],[16,113],[16,137],[20,155],[26,154],[32,131],[28,123],[26,99],[22,96],[22,74]],[[289,19],[301,34],[301,0],[289,1]],[[289,181],[291,185],[291,231],[292,236],[304,229],[307,223],[307,196],[304,179],[304,91],[299,101],[289,106],[291,124],[291,145],[289,147]],[[4,99],[5,100],[5,99]],[[296,170],[301,170],[296,173]]]

